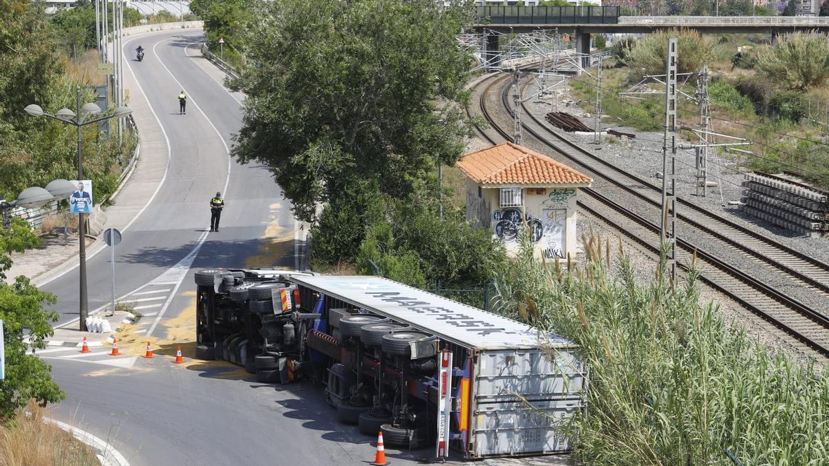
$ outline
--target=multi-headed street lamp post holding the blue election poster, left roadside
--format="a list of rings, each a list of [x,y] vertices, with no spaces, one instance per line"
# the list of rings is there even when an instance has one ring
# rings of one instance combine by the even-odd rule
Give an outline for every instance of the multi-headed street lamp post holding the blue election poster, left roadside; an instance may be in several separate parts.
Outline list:
[[[46,118],[56,119],[65,124],[74,125],[78,132],[78,181],[84,179],[84,159],[81,155],[81,138],[80,129],[87,124],[95,124],[99,121],[111,118],[122,118],[132,113],[133,110],[128,107],[121,106],[115,109],[113,114],[105,115],[100,118],[90,119],[90,115],[101,113],[101,109],[96,104],[80,105],[80,85],[75,89],[75,109],[73,112],[70,109],[60,109],[56,114],[47,114],[41,109],[40,105],[31,104],[26,107],[26,113],[32,116],[45,116]],[[89,300],[86,295],[86,225],[85,214],[78,214],[78,243],[80,244],[80,331],[86,331],[86,318],[89,316]]]

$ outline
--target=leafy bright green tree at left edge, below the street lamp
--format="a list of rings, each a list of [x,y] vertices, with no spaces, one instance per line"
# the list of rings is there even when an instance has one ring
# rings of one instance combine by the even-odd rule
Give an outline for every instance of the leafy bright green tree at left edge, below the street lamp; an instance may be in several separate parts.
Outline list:
[[[14,415],[14,410],[34,398],[41,405],[63,400],[65,394],[51,380],[50,366],[39,357],[28,355],[23,331],[28,331],[33,348],[46,347],[44,339],[52,335],[51,323],[56,313],[42,310],[43,303],[55,303],[55,297],[17,277],[5,282],[5,272],[12,265],[8,254],[22,252],[40,243],[26,221],[14,219],[9,229],[0,230],[0,320],[3,321],[3,345],[6,352],[6,378],[0,381],[0,421]]]

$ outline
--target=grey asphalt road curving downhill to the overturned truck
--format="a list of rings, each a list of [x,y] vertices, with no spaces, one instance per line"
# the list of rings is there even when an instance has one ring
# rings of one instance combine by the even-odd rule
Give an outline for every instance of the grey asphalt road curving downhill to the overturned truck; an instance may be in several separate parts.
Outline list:
[[[194,269],[244,266],[252,259],[292,267],[294,260],[296,223],[279,187],[264,167],[229,163],[225,147],[242,112],[198,57],[193,45],[200,38],[201,32],[182,30],[124,41],[129,58],[138,43],[146,49],[143,62],[129,64],[137,80],[131,89],[136,119],[152,122],[154,112],[169,141],[148,143],[162,152],[169,148],[166,176],[124,232],[116,260],[119,295],[158,277],[170,284],[167,299],[147,304],[156,306],[148,333],[162,339],[157,357],[130,367],[50,359],[67,395],[53,415],[109,441],[133,465],[367,464],[376,439],[337,424],[320,388],[260,384],[224,362],[172,364],[175,347],[193,344],[193,335],[176,328],[187,328],[191,318]],[[187,115],[177,111],[182,88],[190,98]],[[145,136],[162,140],[150,130]],[[207,203],[216,191],[227,207],[221,231],[208,234]],[[89,261],[89,274],[90,308],[96,308],[109,300],[108,252]],[[58,296],[62,322],[76,317],[76,273],[43,288]],[[393,464],[417,464],[430,449],[386,453]]]

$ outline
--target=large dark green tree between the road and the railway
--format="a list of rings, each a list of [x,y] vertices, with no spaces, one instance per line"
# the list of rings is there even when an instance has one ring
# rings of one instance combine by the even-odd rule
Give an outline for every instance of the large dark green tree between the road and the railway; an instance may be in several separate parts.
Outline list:
[[[410,197],[469,128],[470,57],[455,34],[471,8],[433,0],[264,2],[245,34],[255,64],[234,90],[245,118],[234,155],[270,167],[303,221],[369,180]],[[412,27],[413,24],[418,27]]]

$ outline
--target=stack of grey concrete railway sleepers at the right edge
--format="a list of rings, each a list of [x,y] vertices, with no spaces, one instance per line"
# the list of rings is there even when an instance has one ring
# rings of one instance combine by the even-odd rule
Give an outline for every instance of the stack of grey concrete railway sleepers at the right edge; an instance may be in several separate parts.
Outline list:
[[[829,195],[767,173],[746,173],[742,210],[773,225],[817,236],[829,231]]]

